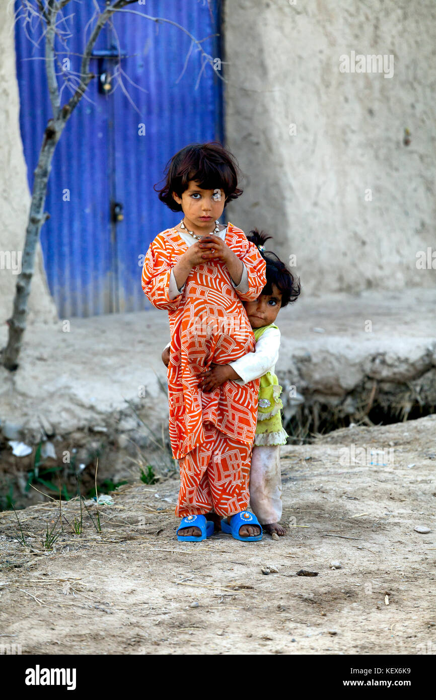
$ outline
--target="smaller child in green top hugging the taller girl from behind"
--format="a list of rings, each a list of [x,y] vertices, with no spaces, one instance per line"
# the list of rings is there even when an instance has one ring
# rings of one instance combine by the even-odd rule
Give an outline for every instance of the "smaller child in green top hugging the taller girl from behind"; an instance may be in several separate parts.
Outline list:
[[[200,386],[203,391],[215,391],[221,381],[239,381],[244,385],[260,377],[258,425],[251,457],[250,505],[260,524],[269,533],[284,535],[279,524],[282,512],[280,445],[286,444],[286,431],[281,425],[281,386],[274,374],[279,358],[280,331],[275,325],[280,309],[295,302],[300,295],[300,282],[274,253],[265,253],[267,236],[251,231],[248,240],[258,246],[267,263],[267,283],[256,300],[244,302],[254,330],[255,352],[227,365],[213,364],[203,372]]]

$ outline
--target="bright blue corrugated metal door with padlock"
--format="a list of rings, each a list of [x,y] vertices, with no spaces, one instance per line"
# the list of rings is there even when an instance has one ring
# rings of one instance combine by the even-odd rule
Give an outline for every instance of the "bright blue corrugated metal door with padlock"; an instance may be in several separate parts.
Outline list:
[[[99,0],[99,6],[104,5]],[[16,10],[19,7],[17,0]],[[62,104],[76,89],[71,71],[80,71],[94,2],[71,1],[64,16],[71,13],[62,25],[71,30],[66,47],[56,42],[59,66],[65,58],[70,61],[70,73],[58,76],[59,85],[64,85]],[[57,144],[45,203],[50,219],[41,231],[45,272],[62,318],[148,305],[141,290],[141,255],[158,232],[179,218],[159,202],[153,185],[178,149],[194,141],[223,139],[223,83],[218,71],[209,64],[202,70],[200,52],[190,51],[191,40],[181,29],[139,14],[171,20],[204,40],[202,47],[220,67],[218,1],[134,3],[101,31],[90,64],[97,77]],[[89,38],[89,27],[86,32]],[[31,37],[35,40],[36,35]],[[15,42],[20,127],[31,188],[52,112],[43,39],[36,47],[18,20]],[[118,52],[120,67],[113,58]]]

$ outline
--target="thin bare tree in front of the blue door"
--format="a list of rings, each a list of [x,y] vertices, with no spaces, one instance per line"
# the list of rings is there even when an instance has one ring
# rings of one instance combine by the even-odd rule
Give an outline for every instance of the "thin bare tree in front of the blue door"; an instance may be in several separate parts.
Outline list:
[[[194,46],[197,48],[197,50],[199,50],[202,57],[202,68],[199,72],[197,85],[199,84],[199,79],[202,76],[206,64],[213,64],[213,57],[204,51],[201,41],[197,40],[195,36],[192,36],[192,34],[190,34],[185,27],[182,27],[177,22],[173,22],[172,20],[167,20],[166,18],[152,17],[151,15],[146,15],[136,10],[125,9],[126,6],[136,3],[137,0],[116,0],[112,4],[106,5],[106,8],[104,8],[102,12],[97,1],[94,0],[95,12],[92,15],[90,22],[88,22],[85,27],[85,36],[87,27],[92,25],[95,20],[96,21],[94,27],[92,28],[90,38],[87,40],[84,53],[78,54],[82,57],[80,72],[75,73],[71,70],[66,72],[64,70],[64,66],[61,66],[59,63],[59,55],[61,52],[57,52],[55,49],[55,39],[56,37],[59,38],[59,41],[66,46],[65,40],[71,36],[71,31],[66,25],[66,20],[69,19],[73,13],[71,15],[67,15],[66,17],[64,17],[62,13],[63,8],[65,8],[70,1],[71,0],[21,0],[21,7],[15,13],[15,20],[17,21],[18,19],[22,18],[24,34],[35,47],[38,47],[41,40],[45,38],[45,57],[41,57],[41,59],[43,59],[45,62],[45,72],[47,75],[53,117],[52,119],[48,120],[48,124],[45,127],[43,142],[38,155],[38,164],[36,165],[36,169],[34,171],[34,185],[26,229],[26,238],[22,253],[22,270],[17,278],[16,292],[13,300],[13,314],[7,321],[9,325],[8,344],[2,351],[2,360],[3,365],[8,370],[15,370],[18,366],[17,359],[21,350],[22,336],[26,328],[27,302],[31,288],[31,279],[34,274],[36,246],[43,223],[50,216],[44,211],[44,204],[47,195],[48,178],[52,167],[53,154],[55,153],[57,142],[61,137],[62,131],[64,130],[66,122],[71,116],[73,109],[76,108],[80,102],[80,99],[83,97],[90,99],[85,94],[90,80],[95,77],[94,74],[90,72],[90,59],[92,57],[92,49],[94,48],[94,44],[97,41],[101,29],[104,27],[104,25],[106,25],[106,22],[111,22],[111,17],[115,12],[129,12],[134,15],[139,15],[139,17],[143,19],[149,20],[150,22],[155,22],[156,25],[159,25],[160,23],[167,23],[177,27],[191,39],[190,50],[188,52],[188,57],[185,60],[185,65],[183,66],[182,75],[185,72],[188,59]],[[36,6],[34,5],[34,2],[36,3]],[[28,32],[28,29],[33,31],[34,20],[41,23],[43,27],[38,41],[34,41],[34,38],[29,36]],[[43,26],[44,22],[45,27]],[[64,25],[66,29],[62,29],[62,25]],[[69,51],[66,52],[71,55]],[[125,76],[129,82],[132,83],[132,85],[135,85],[135,83],[133,83],[129,76],[122,71],[120,61],[120,46],[118,42],[118,65],[115,69],[115,76],[117,77],[118,83],[120,84],[120,87],[127,99],[130,100],[132,106],[134,106],[134,109],[136,109],[136,106],[133,104],[132,99],[122,81],[122,76]],[[59,73],[56,71],[56,65],[61,68]],[[64,83],[60,88],[57,81],[58,75],[62,76],[64,80]],[[223,80],[222,76],[219,77]],[[180,78],[181,76],[178,79],[180,80]],[[73,81],[77,81],[78,85],[71,85],[70,83]],[[69,101],[61,107],[61,97],[64,87],[66,87],[68,90],[74,90],[74,92]],[[143,89],[139,85],[136,85],[136,87]],[[92,100],[90,100],[90,102],[92,102]],[[136,109],[136,111],[139,110]]]

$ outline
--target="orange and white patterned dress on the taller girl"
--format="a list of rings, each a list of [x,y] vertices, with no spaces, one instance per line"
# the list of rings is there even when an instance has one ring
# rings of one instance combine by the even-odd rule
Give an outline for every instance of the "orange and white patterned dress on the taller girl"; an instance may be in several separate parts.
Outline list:
[[[225,264],[213,260],[192,269],[181,295],[171,300],[171,269],[188,249],[174,228],[157,235],[143,265],[144,293],[153,306],[167,309],[169,314],[169,435],[173,456],[182,461],[189,453],[192,460],[200,446],[210,443],[211,426],[222,437],[228,436],[232,444],[248,447],[248,452],[255,435],[258,379],[244,386],[225,381],[211,393],[203,393],[198,386],[197,374],[211,362],[226,365],[255,350],[253,330],[241,300],[257,299],[262,292],[265,260],[244,232],[231,223],[225,243],[244,262],[246,293],[238,293]]]

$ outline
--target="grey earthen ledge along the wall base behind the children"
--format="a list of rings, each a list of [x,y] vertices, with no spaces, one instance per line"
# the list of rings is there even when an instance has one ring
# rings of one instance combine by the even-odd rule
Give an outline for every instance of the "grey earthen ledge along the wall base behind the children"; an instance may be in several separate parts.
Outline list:
[[[349,414],[374,381],[386,395],[415,383],[424,402],[436,403],[435,309],[436,290],[420,288],[302,296],[283,309],[276,371],[288,415],[292,386],[306,404],[344,405]],[[17,424],[29,441],[43,434],[41,423],[55,435],[114,421],[128,430],[128,400],[160,431],[167,416],[160,359],[169,339],[167,314],[153,309],[73,318],[69,331],[62,328],[62,321],[29,325],[19,369],[0,371],[1,423]],[[0,340],[5,344],[6,328]]]

